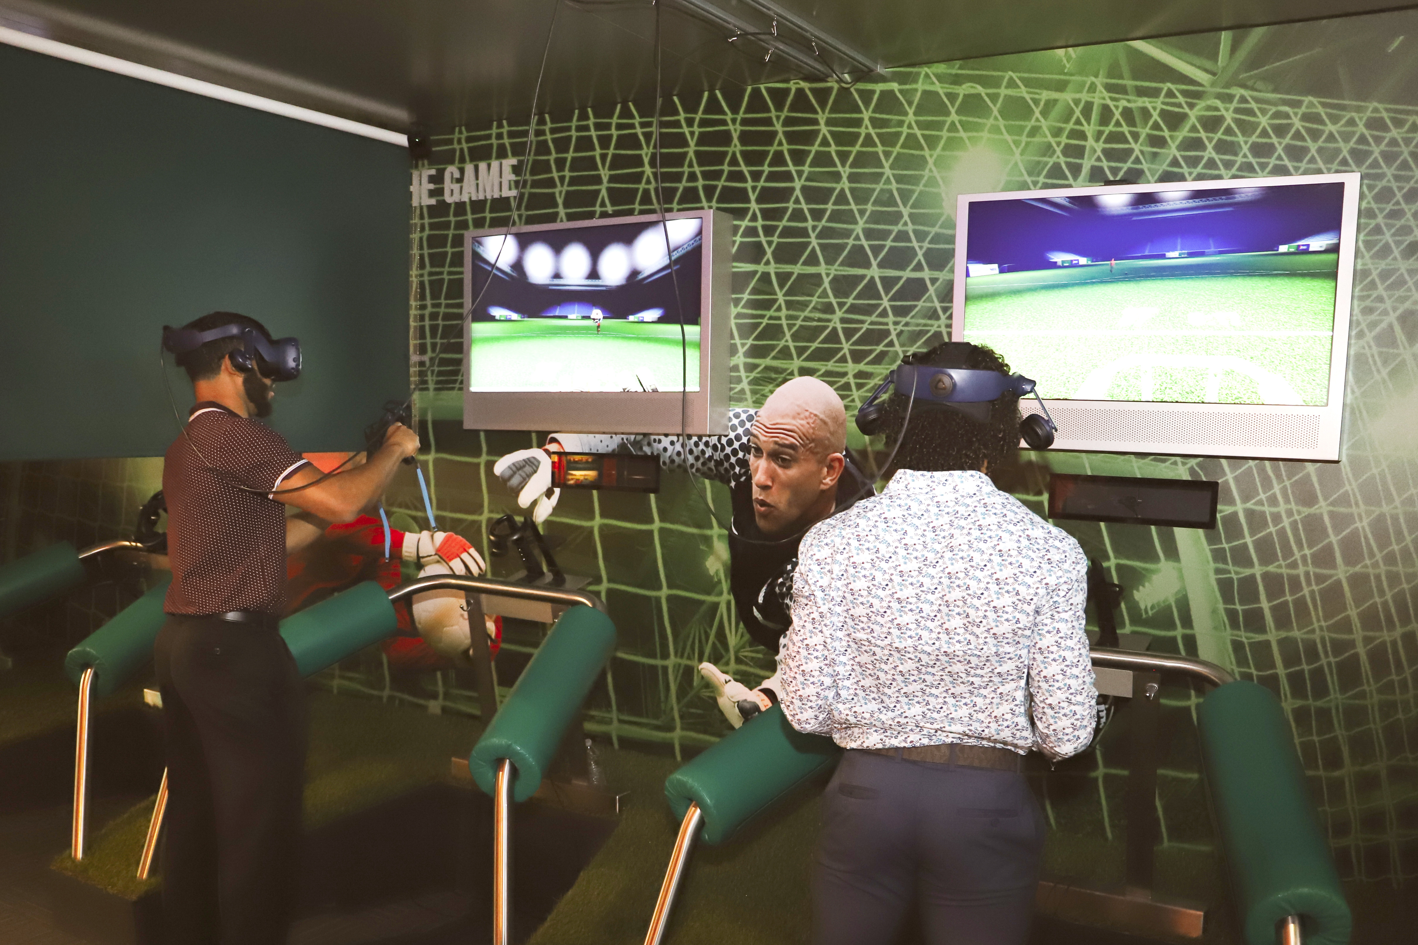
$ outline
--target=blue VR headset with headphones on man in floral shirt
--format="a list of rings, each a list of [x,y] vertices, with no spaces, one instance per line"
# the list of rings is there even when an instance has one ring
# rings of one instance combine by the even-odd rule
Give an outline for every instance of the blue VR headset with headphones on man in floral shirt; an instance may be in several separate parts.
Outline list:
[[[1022,374],[902,363],[856,409],[856,429],[866,436],[881,432],[886,414],[885,397],[892,385],[898,394],[912,398],[913,402],[954,409],[977,424],[990,422],[991,401],[997,401],[1005,394],[1015,394],[1021,398],[1034,394],[1044,415],[1029,414],[1025,417],[1020,422],[1020,436],[1029,449],[1048,449],[1054,445],[1054,434],[1058,432],[1054,418],[1049,417],[1049,408],[1044,405],[1044,398],[1034,388],[1034,381]]]

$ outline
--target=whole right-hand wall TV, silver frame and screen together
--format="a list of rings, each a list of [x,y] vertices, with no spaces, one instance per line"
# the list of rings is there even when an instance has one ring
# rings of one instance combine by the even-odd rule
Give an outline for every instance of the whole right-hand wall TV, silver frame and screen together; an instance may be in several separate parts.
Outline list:
[[[964,194],[951,339],[1055,449],[1337,460],[1357,220],[1358,174]]]

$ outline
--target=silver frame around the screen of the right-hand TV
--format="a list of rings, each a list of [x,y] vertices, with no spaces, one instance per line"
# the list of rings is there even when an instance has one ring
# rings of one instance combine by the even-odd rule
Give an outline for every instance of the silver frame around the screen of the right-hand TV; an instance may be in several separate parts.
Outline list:
[[[956,279],[950,340],[966,340],[966,326],[970,319],[966,306],[964,272],[970,247],[968,210],[971,204],[993,200],[1098,197],[1100,194],[1144,194],[1166,190],[1224,190],[1324,183],[1344,184],[1344,203],[1340,214],[1339,279],[1334,290],[1334,340],[1330,347],[1329,397],[1324,407],[1073,401],[1054,400],[1046,390],[1041,390],[1039,395],[1048,402],[1049,412],[1059,426],[1054,449],[1090,453],[1245,456],[1339,462],[1343,445],[1350,300],[1354,288],[1354,245],[1358,237],[1358,173],[960,194],[956,203]],[[1020,407],[1025,414],[1039,412],[1034,398],[1021,401]]]

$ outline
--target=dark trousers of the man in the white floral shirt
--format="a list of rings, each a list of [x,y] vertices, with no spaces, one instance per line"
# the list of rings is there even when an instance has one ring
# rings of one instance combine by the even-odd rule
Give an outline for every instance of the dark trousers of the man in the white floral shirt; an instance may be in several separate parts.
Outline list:
[[[930,945],[1021,945],[1044,816],[1024,775],[848,751],[822,798],[815,945],[889,945],[919,904]]]

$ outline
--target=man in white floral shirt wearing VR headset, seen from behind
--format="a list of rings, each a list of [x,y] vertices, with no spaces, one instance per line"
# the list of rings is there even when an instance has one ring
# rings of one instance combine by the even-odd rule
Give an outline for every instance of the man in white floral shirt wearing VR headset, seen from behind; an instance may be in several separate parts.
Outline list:
[[[1021,424],[1032,388],[973,344],[905,358],[858,414],[896,443],[891,485],[803,538],[783,711],[847,748],[815,945],[891,942],[913,901],[927,942],[1027,938],[1044,820],[1024,755],[1082,751],[1096,698],[1083,551],[987,476],[1021,434],[1052,441]]]

